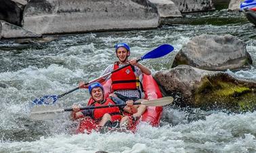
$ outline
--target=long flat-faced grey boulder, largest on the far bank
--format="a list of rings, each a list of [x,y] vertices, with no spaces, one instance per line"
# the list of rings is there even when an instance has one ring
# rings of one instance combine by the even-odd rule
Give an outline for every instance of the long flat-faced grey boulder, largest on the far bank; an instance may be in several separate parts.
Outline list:
[[[39,34],[156,28],[157,9],[144,0],[30,0],[23,27]]]

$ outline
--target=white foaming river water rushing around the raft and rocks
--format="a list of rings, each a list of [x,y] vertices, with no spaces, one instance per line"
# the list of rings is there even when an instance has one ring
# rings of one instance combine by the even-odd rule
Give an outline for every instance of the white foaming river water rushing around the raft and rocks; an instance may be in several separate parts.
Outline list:
[[[33,121],[35,98],[62,94],[80,80],[98,78],[116,60],[114,44],[127,42],[131,57],[140,57],[171,44],[175,51],[161,59],[142,61],[153,73],[169,69],[175,54],[200,34],[232,34],[247,43],[253,65],[247,71],[230,71],[256,80],[256,28],[240,12],[226,10],[190,13],[168,19],[154,30],[97,32],[45,36],[54,39],[1,40],[0,42],[0,152],[256,152],[256,113],[225,113],[200,109],[164,108],[160,127],[140,123],[133,133],[74,134],[77,123],[60,113],[57,119]],[[70,107],[83,104],[87,90],[58,100]]]

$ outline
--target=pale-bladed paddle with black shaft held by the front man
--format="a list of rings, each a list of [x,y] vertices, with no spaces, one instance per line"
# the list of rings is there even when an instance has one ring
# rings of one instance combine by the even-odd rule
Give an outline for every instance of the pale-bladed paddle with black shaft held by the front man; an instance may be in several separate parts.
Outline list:
[[[144,104],[146,106],[165,106],[167,104],[171,104],[173,102],[173,98],[171,96],[166,96],[163,98],[158,98],[155,100],[137,100],[133,103],[133,105]],[[105,106],[86,106],[80,108],[80,110],[88,110],[88,109],[103,109],[115,106],[126,106],[127,104],[123,102],[123,104],[112,104]],[[34,120],[46,120],[46,119],[54,119],[58,117],[58,113],[63,113],[67,111],[72,111],[72,108],[62,109],[57,105],[49,105],[43,104],[39,106],[34,106],[30,112],[30,119]]]

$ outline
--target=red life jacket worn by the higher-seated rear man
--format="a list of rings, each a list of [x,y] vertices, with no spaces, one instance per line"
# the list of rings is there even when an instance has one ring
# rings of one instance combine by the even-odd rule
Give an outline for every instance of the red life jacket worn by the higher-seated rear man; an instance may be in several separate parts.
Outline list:
[[[114,63],[114,70],[119,68],[118,62]],[[134,73],[135,68],[130,65],[111,74],[112,90],[137,90],[140,85]]]

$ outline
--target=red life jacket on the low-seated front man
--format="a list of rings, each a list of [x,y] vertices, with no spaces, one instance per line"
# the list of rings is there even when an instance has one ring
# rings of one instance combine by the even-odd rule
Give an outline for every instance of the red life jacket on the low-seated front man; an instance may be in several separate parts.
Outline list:
[[[98,102],[95,102],[93,104],[93,106],[107,106],[107,105],[111,105],[111,104],[115,104],[112,99],[110,98],[107,98],[105,100],[105,102],[103,102],[102,104],[98,103]],[[121,121],[121,112],[119,110],[119,107],[118,106],[115,106],[115,107],[109,107],[109,108],[103,108],[103,109],[95,109],[93,111],[93,117],[94,119],[102,119],[102,117],[104,116],[104,114],[108,113],[109,115],[111,115],[111,119],[112,121]]]

